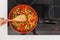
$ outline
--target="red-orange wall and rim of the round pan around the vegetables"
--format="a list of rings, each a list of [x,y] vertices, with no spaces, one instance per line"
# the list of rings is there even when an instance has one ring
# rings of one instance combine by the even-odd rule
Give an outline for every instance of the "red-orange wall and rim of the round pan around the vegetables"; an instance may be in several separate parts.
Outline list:
[[[21,7],[21,6],[28,6],[28,7],[30,7],[33,11],[34,11],[34,13],[37,15],[37,12],[31,7],[31,6],[29,6],[29,5],[26,5],[26,4],[20,4],[20,5],[17,5],[17,6],[15,6],[10,12],[9,12],[9,19],[12,19],[12,15],[13,15],[13,11],[15,10],[15,9],[17,9],[17,8],[19,8],[19,7]],[[37,15],[37,23],[38,23],[38,15]],[[28,32],[19,32],[19,31],[17,31],[14,27],[13,27],[13,25],[11,24],[11,22],[9,22],[9,25],[10,25],[10,27],[14,30],[14,31],[16,31],[17,33],[21,33],[21,34],[27,34],[27,33],[29,33],[29,32],[31,32],[31,31],[33,31],[35,28],[36,28],[36,26],[35,27],[32,27],[31,29],[30,29],[30,31],[28,31]]]

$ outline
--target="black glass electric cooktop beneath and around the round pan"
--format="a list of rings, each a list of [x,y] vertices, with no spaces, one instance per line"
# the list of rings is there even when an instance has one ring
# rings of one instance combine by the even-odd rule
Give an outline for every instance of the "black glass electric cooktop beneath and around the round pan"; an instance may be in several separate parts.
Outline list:
[[[38,25],[26,35],[60,35],[60,1],[59,0],[8,0],[8,14],[19,4],[27,4],[38,14]],[[8,24],[8,35],[20,35]]]

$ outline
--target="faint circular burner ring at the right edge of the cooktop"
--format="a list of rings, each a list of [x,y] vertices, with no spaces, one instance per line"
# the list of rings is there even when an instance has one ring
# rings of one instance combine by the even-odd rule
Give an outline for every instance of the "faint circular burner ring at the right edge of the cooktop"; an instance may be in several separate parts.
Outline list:
[[[49,10],[50,19],[59,19],[60,20],[60,6],[52,6]]]

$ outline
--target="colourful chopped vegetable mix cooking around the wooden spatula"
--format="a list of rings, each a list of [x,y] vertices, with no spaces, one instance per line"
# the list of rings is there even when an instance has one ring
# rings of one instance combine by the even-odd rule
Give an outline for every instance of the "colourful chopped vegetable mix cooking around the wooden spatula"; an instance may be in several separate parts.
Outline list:
[[[28,32],[32,29],[32,27],[35,27],[37,24],[37,15],[35,15],[34,11],[30,9],[29,7],[23,8],[17,8],[14,11],[13,18],[17,17],[18,15],[26,15],[27,21],[24,22],[17,22],[12,21],[13,27],[21,32]]]

